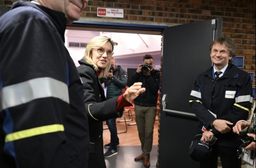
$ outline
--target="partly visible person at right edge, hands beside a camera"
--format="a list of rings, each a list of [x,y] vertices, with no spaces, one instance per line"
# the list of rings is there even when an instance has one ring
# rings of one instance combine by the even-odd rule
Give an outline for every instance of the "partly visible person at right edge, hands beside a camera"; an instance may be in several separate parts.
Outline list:
[[[254,105],[253,105],[253,108],[252,108],[252,114],[250,115],[249,120],[247,120],[247,121],[240,120],[240,121],[236,122],[236,125],[233,127],[233,132],[236,133],[236,134],[244,133],[248,129],[248,133],[251,133],[251,134],[247,134],[247,135],[249,137],[253,137],[254,140],[255,140],[255,125],[256,125],[255,104],[256,103],[254,102]],[[251,142],[249,145],[244,147],[244,149],[255,151],[255,142]],[[255,157],[254,157],[254,164],[256,164]],[[246,164],[246,168],[253,168],[253,165]]]

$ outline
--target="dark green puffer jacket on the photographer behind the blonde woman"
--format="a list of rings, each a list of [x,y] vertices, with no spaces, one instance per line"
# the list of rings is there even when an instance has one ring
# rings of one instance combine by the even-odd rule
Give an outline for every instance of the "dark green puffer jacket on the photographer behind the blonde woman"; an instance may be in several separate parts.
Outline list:
[[[120,71],[119,76],[118,71]],[[107,99],[120,96],[123,93],[123,88],[125,88],[127,84],[128,75],[121,66],[116,65],[116,68],[113,71],[113,75],[113,80],[111,80],[109,77],[101,78],[104,81],[105,87],[107,87]]]

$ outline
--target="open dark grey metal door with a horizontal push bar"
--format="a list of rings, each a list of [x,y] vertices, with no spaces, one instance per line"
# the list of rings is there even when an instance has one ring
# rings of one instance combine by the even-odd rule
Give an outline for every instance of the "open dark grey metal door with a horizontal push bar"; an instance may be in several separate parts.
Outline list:
[[[222,18],[165,28],[163,31],[160,168],[199,168],[189,157],[198,120],[189,95],[198,74],[212,66],[209,45],[221,36]]]

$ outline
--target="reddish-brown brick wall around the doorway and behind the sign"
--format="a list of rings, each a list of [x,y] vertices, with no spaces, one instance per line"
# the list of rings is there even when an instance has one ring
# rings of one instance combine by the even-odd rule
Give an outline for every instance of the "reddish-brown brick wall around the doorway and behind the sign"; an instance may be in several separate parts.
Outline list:
[[[0,0],[0,6],[10,7],[14,1]],[[89,0],[81,20],[173,26],[222,17],[222,36],[235,40],[237,56],[244,57],[241,69],[255,74],[255,1]],[[97,7],[124,9],[124,17],[97,17]]]

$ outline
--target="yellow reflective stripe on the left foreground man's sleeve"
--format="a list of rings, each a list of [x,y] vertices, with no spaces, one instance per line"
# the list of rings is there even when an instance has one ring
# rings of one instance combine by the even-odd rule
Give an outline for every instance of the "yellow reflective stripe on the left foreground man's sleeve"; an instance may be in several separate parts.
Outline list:
[[[64,131],[64,126],[60,124],[53,124],[36,128],[30,128],[23,131],[17,131],[11,134],[7,134],[5,137],[5,142],[20,140],[23,138],[33,137],[41,134],[48,134],[57,131]]]

